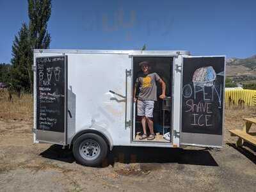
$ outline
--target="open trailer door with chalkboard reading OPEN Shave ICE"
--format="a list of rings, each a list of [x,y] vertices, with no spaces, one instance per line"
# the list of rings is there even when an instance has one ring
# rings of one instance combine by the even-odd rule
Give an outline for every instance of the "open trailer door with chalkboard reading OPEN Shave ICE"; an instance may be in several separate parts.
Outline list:
[[[183,58],[180,145],[221,147],[225,56]]]

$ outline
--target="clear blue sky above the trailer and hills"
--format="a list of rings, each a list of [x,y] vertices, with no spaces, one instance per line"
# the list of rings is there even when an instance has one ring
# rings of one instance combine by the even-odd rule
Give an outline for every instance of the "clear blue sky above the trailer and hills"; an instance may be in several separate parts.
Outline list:
[[[256,1],[52,1],[50,49],[186,50],[256,54]],[[0,63],[10,63],[26,0],[0,0]]]

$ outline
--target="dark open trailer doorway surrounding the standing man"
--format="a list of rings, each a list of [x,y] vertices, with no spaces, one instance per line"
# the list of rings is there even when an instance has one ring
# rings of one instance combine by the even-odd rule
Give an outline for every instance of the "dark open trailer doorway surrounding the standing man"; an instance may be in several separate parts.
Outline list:
[[[143,72],[139,66],[139,63],[147,61],[150,65],[149,74],[156,72],[159,77],[166,84],[166,99],[159,99],[159,95],[162,93],[161,84],[156,82],[157,85],[157,101],[154,102],[153,111],[153,123],[154,123],[154,140],[140,140],[143,134],[143,128],[141,125],[141,116],[138,116],[138,102],[134,102],[132,105],[132,141],[150,141],[168,143],[172,142],[172,92],[173,92],[173,58],[163,56],[134,56],[132,60],[132,82],[133,91],[134,84],[138,77],[143,76]],[[136,97],[138,98],[139,89],[136,90]],[[132,94],[132,99],[134,96]],[[146,122],[147,135],[149,135],[149,129]]]

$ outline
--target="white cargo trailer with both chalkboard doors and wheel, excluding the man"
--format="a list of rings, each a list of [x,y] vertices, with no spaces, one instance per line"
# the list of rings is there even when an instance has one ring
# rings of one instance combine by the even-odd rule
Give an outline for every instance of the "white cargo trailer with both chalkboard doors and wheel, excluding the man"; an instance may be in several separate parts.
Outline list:
[[[154,140],[142,134],[133,90],[138,63],[166,83],[154,108]],[[223,143],[225,56],[188,51],[34,51],[34,143],[72,146],[95,166],[115,146],[218,147]]]

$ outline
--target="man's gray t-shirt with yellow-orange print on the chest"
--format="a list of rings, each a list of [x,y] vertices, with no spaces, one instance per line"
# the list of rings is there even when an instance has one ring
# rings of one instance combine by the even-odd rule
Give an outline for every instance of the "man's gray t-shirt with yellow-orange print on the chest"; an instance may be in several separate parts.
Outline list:
[[[138,77],[136,83],[139,84],[139,97],[140,100],[157,100],[156,97],[156,81],[160,77],[157,73],[147,74],[144,77]]]

